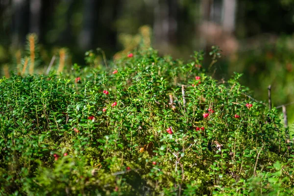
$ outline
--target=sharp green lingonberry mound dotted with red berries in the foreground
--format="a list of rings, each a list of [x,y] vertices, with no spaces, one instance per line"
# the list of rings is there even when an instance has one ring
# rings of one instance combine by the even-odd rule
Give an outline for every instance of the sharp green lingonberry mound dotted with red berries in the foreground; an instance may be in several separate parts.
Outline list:
[[[0,79],[1,195],[293,195],[288,129],[241,74],[213,79],[202,52],[138,50],[108,68],[95,55]]]

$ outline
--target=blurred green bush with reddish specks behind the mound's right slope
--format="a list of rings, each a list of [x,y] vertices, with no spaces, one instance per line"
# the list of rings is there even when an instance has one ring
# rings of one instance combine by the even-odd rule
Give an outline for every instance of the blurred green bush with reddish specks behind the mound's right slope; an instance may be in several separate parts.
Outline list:
[[[281,36],[274,44],[240,52],[231,58],[224,73],[242,72],[241,83],[254,91],[256,98],[268,99],[267,88],[271,85],[274,106],[294,101],[294,36]],[[281,109],[281,108],[280,108]],[[287,106],[290,123],[294,123],[294,104]]]

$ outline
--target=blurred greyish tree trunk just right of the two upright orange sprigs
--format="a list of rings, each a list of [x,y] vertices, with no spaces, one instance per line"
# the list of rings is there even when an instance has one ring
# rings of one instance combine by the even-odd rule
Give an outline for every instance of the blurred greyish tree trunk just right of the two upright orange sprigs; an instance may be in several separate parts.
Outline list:
[[[78,45],[82,50],[90,49],[93,41],[95,4],[96,0],[84,0],[83,27],[78,36]]]

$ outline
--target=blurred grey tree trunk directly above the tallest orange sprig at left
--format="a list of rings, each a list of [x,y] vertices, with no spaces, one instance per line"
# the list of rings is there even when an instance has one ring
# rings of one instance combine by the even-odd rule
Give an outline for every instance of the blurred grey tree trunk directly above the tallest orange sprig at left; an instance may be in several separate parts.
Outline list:
[[[30,23],[29,32],[36,33],[40,36],[40,21],[41,21],[41,0],[30,0],[29,11],[30,11]]]

